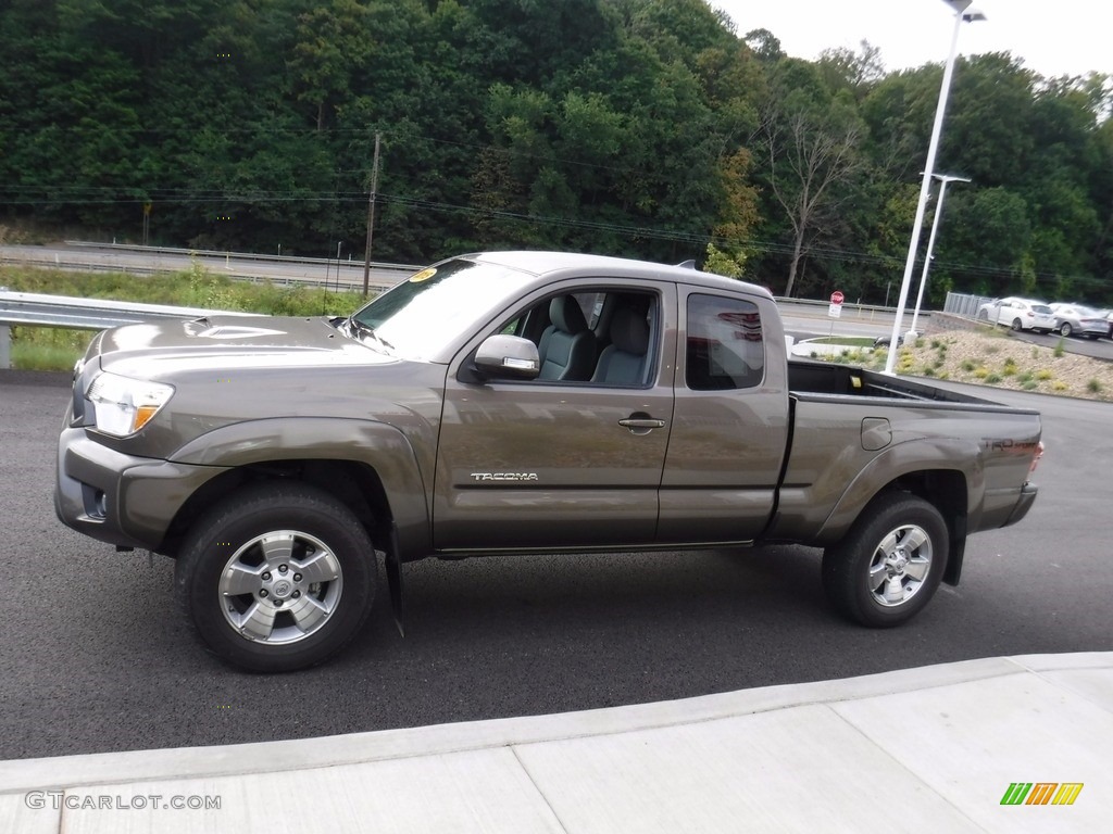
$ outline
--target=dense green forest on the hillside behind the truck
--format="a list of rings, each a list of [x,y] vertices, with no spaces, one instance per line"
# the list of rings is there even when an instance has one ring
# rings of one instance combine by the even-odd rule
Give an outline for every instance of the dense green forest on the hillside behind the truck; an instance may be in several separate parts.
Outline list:
[[[2,0],[0,39],[9,229],[362,258],[374,182],[375,260],[696,258],[875,302],[943,73],[789,58],[705,0]],[[959,59],[935,304],[1113,302],[1111,103],[1104,76]]]

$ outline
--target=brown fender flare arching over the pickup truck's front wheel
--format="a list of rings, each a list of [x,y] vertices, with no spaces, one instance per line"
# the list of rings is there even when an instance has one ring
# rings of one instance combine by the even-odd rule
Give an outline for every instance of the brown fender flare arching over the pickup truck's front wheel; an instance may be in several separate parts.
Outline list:
[[[429,494],[417,455],[410,438],[388,424],[335,417],[245,420],[195,437],[170,457],[226,468],[301,459],[353,460],[373,468],[390,502],[402,560],[432,550]]]

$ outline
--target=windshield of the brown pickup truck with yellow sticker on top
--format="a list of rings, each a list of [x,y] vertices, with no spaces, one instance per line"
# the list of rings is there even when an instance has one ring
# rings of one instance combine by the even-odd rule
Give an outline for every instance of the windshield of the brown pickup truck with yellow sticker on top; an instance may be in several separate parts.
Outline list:
[[[486,322],[525,276],[494,264],[449,260],[415,272],[352,316],[351,335],[395,356],[432,359]]]

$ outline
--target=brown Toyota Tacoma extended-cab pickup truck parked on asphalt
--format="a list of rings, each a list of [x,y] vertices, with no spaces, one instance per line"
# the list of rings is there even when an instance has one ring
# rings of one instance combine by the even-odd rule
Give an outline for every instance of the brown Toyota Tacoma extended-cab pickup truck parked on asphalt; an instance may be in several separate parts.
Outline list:
[[[257,671],[363,626],[377,555],[801,543],[844,615],[892,626],[955,584],[969,533],[1036,495],[1036,411],[789,360],[772,297],[617,258],[436,264],[346,319],[213,317],[98,335],[56,507],[175,557],[189,622]]]

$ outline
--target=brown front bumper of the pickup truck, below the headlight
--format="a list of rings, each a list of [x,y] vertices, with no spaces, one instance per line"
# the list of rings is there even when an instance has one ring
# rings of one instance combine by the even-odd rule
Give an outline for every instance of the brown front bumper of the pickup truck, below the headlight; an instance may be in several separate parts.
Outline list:
[[[55,512],[78,533],[120,547],[158,550],[178,510],[225,467],[126,455],[63,428],[58,438]]]

